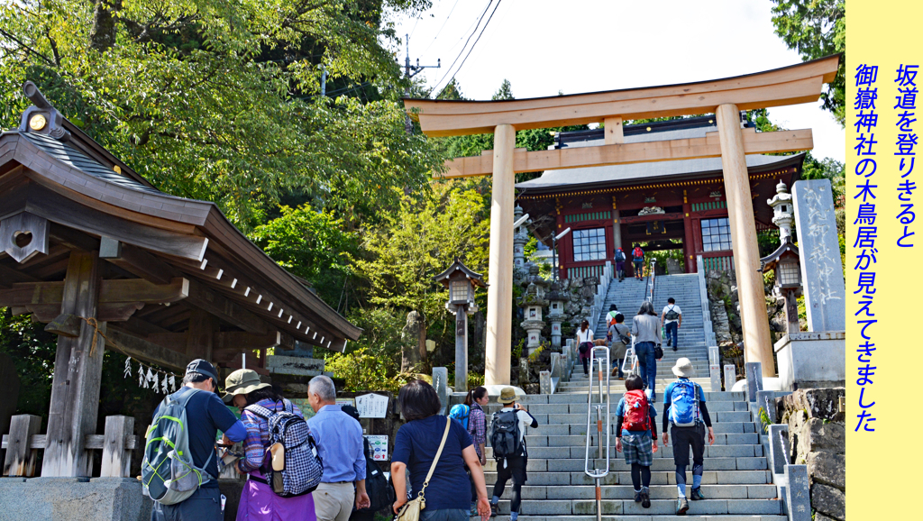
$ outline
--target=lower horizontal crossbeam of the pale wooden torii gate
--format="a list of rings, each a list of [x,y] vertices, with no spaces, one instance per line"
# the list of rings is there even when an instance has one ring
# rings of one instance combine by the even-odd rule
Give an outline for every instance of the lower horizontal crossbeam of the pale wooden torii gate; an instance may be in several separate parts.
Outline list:
[[[814,139],[809,128],[760,133],[749,128],[743,132],[743,139],[746,154],[807,151],[814,148]],[[549,151],[517,151],[513,154],[513,170],[540,172],[606,164],[655,163],[708,157],[721,157],[721,141],[717,132],[709,132],[704,138],[642,141]],[[445,174],[433,176],[490,176],[494,170],[492,155],[450,159],[446,161],[445,166]]]

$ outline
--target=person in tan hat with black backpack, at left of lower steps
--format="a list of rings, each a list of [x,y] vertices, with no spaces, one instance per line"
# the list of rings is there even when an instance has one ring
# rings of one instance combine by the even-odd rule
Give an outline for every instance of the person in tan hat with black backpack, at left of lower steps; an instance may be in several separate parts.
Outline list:
[[[538,421],[516,403],[516,391],[512,387],[504,387],[497,402],[503,408],[494,413],[490,428],[490,446],[497,460],[497,482],[494,484],[494,496],[490,500],[490,516],[497,515],[500,496],[511,478],[513,500],[509,505],[509,520],[516,521],[522,503],[522,484],[528,479],[525,468],[529,463],[529,452],[525,446],[525,430],[527,427],[537,428]]]

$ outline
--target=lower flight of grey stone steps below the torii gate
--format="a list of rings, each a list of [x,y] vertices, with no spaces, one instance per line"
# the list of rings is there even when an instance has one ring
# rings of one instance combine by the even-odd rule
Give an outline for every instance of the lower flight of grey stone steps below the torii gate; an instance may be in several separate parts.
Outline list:
[[[582,374],[582,368],[574,367]],[[595,518],[595,487],[584,473],[586,443],[587,394],[574,389],[562,394],[530,394],[521,403],[538,420],[539,427],[526,432],[529,450],[529,479],[522,487],[520,519],[523,521],[592,521]],[[611,410],[624,392],[622,382],[612,381]],[[783,504],[777,499],[767,458],[763,453],[758,425],[747,410],[743,393],[707,393],[709,412],[715,432],[714,445],[705,448],[705,472],[702,491],[706,501],[689,502],[687,516],[692,519],[773,520],[786,519]],[[489,413],[500,406],[492,399]],[[660,430],[662,406],[656,406],[657,429]],[[613,418],[612,429],[615,429]],[[593,415],[592,430],[595,430]],[[603,437],[605,444],[605,435]],[[489,445],[489,443],[488,443]],[[591,457],[595,457],[598,440],[593,432]],[[604,448],[605,451],[605,448]],[[651,508],[634,503],[630,467],[615,450],[612,436],[609,475],[602,480],[603,517],[607,520],[654,521],[674,519],[676,475],[673,447],[660,447],[653,454]],[[497,463],[487,448],[485,476],[488,496],[497,479]],[[605,457],[605,452],[604,452]],[[593,460],[605,466],[605,459]],[[593,463],[593,462],[592,462]],[[592,465],[591,465],[592,466]],[[691,484],[691,471],[688,473]],[[500,501],[498,521],[509,519],[511,483]],[[689,486],[687,488],[689,494]],[[474,519],[474,518],[472,518]]]

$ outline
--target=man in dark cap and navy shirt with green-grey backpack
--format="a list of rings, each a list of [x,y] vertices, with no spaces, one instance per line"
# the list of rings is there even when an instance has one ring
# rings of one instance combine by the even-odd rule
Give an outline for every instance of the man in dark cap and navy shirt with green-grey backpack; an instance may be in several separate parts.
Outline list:
[[[163,398],[146,434],[141,484],[151,519],[221,521],[215,439],[243,442],[246,428],[218,397],[218,371],[206,360],[186,366],[183,387]]]

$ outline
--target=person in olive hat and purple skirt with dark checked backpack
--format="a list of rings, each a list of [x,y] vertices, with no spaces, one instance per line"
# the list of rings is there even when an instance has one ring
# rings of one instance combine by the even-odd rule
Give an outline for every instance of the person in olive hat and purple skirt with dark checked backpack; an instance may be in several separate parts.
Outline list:
[[[235,370],[224,389],[246,427],[244,455],[234,464],[247,475],[237,519],[315,521],[311,492],[322,466],[301,410],[254,370]]]

